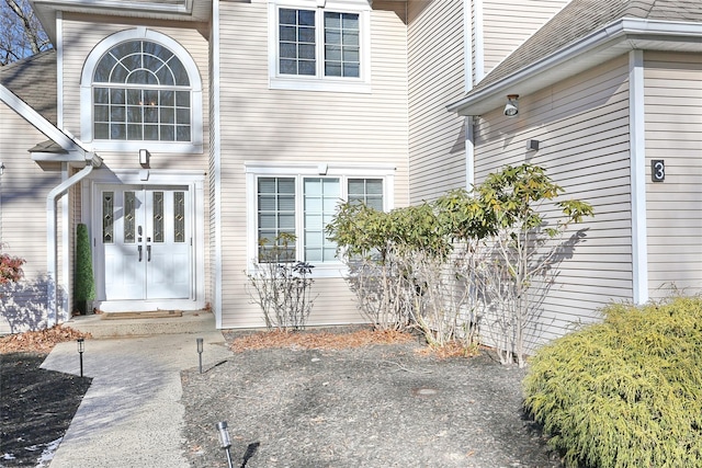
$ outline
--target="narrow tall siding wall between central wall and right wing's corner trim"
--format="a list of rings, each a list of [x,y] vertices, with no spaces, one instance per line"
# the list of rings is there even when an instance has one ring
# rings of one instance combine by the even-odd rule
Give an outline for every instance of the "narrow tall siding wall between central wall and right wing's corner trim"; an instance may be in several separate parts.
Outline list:
[[[464,118],[446,111],[464,89],[463,0],[409,2],[411,202],[466,184]]]

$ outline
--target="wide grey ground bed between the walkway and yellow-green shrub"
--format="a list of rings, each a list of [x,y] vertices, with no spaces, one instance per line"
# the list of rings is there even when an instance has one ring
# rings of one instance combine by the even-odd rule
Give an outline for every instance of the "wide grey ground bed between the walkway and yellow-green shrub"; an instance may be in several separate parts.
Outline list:
[[[523,416],[523,369],[310,334],[225,333],[231,358],[182,373],[191,466],[227,467],[219,421],[236,467],[562,466]]]

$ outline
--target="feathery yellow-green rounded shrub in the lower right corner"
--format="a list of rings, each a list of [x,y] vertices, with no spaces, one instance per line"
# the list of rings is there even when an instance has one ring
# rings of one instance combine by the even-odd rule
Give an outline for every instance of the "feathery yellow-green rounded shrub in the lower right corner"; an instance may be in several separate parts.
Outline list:
[[[609,306],[536,353],[524,393],[568,466],[702,467],[702,298]]]

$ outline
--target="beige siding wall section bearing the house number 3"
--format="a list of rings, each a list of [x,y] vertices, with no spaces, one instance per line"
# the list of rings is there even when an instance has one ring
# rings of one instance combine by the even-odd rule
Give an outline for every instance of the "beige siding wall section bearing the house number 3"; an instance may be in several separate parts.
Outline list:
[[[646,53],[646,219],[652,298],[702,290],[702,57]],[[664,182],[650,161],[664,160]]]

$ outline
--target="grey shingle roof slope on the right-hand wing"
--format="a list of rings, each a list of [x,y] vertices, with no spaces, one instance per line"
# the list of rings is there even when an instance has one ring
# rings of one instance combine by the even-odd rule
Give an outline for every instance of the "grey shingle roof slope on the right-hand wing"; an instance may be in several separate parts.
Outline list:
[[[495,67],[473,92],[507,78],[624,18],[702,22],[702,0],[573,0]]]

